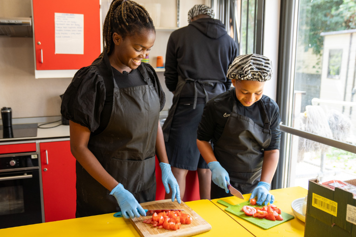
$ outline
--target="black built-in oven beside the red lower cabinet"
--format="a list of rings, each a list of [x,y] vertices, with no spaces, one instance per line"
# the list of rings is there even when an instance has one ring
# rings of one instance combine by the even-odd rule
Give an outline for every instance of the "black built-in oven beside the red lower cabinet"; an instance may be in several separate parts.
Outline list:
[[[0,155],[0,228],[42,222],[38,153]]]

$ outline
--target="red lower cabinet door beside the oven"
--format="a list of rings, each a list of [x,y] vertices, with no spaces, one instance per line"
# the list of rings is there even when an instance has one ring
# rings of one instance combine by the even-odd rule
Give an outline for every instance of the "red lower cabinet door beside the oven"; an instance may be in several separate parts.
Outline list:
[[[45,221],[75,218],[75,158],[70,142],[42,142],[40,152]]]

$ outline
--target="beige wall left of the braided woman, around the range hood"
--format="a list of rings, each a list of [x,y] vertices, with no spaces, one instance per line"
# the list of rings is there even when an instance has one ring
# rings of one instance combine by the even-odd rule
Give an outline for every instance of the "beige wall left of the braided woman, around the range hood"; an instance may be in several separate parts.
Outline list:
[[[0,0],[0,17],[29,17],[31,0]],[[35,79],[33,38],[0,37],[0,107],[13,117],[60,115],[70,78]]]

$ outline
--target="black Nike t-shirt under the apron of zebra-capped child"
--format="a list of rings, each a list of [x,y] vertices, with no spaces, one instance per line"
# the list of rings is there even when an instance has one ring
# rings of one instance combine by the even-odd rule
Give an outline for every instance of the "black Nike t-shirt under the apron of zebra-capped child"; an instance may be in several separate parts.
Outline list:
[[[279,149],[281,140],[281,131],[279,123],[279,107],[277,103],[270,97],[263,95],[261,98],[269,120],[271,121],[272,139],[270,145],[264,151],[272,151]],[[236,98],[235,88],[214,97],[204,107],[204,112],[198,127],[197,138],[201,141],[212,141],[213,144],[221,137],[226,122],[229,119],[228,114],[232,112],[233,103],[236,103],[238,114],[249,117],[258,126],[263,127],[263,116],[260,112],[260,103],[254,103],[251,106],[243,106]],[[263,109],[262,109],[263,110]],[[225,115],[225,116],[224,116]]]

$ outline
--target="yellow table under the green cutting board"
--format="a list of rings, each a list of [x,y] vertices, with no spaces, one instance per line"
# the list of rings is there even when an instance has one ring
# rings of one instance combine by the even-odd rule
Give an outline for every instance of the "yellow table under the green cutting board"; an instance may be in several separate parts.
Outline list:
[[[293,187],[293,188],[285,188],[285,189],[275,189],[270,191],[271,194],[275,196],[275,204],[278,206],[278,208],[282,209],[283,212],[288,213],[290,215],[294,215],[292,208],[291,208],[291,203],[293,200],[301,197],[305,197],[308,194],[308,190],[302,188],[302,187]],[[249,200],[251,194],[245,194],[245,201]],[[218,199],[213,199],[212,202],[215,203],[221,210],[225,210],[226,206],[219,204],[217,201],[218,200],[224,200],[232,205],[239,204],[241,202],[244,202],[244,200],[237,198],[237,197],[226,197],[226,198],[218,198]],[[250,231],[253,235],[260,237],[279,237],[279,236],[288,236],[288,237],[300,237],[304,236],[304,228],[305,228],[305,223],[298,218],[294,218],[290,221],[287,221],[283,224],[277,225],[275,227],[272,227],[271,229],[264,230],[254,224],[251,224],[248,221],[245,221],[233,214],[230,214],[226,211],[229,216],[231,216],[236,222],[240,223],[242,226],[244,226],[248,231]],[[1,232],[0,232],[1,233]]]

